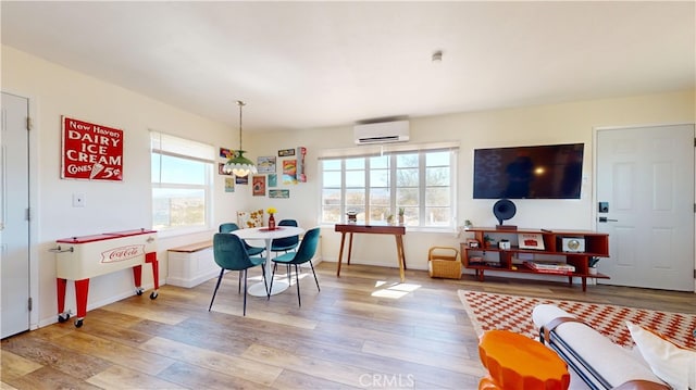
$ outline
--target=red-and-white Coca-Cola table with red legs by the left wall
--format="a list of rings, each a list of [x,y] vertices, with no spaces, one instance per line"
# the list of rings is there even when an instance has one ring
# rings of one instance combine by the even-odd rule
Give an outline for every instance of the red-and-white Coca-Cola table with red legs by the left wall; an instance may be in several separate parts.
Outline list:
[[[104,232],[101,235],[70,237],[55,241],[58,320],[64,323],[70,318],[65,312],[65,287],[67,280],[75,281],[75,299],[77,301],[77,318],[75,326],[82,327],[87,314],[87,295],[89,278],[110,274],[116,271],[133,268],[135,292],[141,295],[142,264],[152,264],[154,290],[150,299],[158,295],[159,263],[157,260],[157,231],[136,229]]]

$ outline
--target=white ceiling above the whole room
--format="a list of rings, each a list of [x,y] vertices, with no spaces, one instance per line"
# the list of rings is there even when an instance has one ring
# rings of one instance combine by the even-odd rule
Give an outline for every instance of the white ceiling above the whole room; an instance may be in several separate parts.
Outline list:
[[[245,131],[696,85],[694,1],[0,7],[3,45]]]

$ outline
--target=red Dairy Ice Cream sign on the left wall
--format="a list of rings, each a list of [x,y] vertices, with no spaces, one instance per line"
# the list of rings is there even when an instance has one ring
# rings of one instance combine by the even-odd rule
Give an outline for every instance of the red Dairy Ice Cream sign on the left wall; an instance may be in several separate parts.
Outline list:
[[[123,130],[62,117],[61,177],[123,180]]]

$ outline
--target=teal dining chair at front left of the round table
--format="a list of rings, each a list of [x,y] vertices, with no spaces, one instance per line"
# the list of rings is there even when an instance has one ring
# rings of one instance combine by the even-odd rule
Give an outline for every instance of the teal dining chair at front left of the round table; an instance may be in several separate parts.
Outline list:
[[[246,316],[247,271],[249,268],[256,267],[258,265],[261,266],[263,274],[263,285],[265,286],[266,295],[269,293],[269,285],[265,280],[265,267],[263,266],[263,264],[265,263],[265,259],[261,256],[249,256],[249,253],[244,247],[243,240],[235,235],[226,232],[216,232],[213,236],[213,259],[220,266],[220,276],[217,277],[217,284],[215,285],[215,290],[213,291],[213,297],[210,300],[210,306],[208,306],[208,311],[210,312],[210,310],[213,307],[215,294],[217,294],[217,289],[220,289],[220,282],[222,281],[222,277],[225,275],[225,271],[239,271],[240,273],[244,273],[244,315]]]

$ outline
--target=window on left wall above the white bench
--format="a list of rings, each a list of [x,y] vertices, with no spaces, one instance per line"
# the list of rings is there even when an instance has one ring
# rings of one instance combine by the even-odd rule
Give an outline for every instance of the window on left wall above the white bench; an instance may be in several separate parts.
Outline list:
[[[208,228],[215,149],[150,131],[152,229],[189,231]]]

